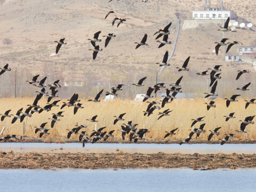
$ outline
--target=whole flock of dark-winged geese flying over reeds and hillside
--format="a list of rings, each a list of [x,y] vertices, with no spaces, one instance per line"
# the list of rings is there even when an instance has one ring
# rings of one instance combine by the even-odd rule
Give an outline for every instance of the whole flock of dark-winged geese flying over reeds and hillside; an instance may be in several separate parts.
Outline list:
[[[112,0],[110,0],[109,2],[111,2],[111,1]],[[142,1],[142,2],[146,3],[147,1]],[[115,12],[118,12],[118,10],[108,11],[105,19],[110,15],[110,13],[115,13]],[[123,23],[127,19],[129,19],[129,18],[115,17],[113,19],[112,25],[114,26],[115,21],[118,20],[118,23],[117,23],[117,27],[118,27],[121,23]],[[218,30],[223,31],[223,32],[233,30],[234,28],[232,28],[232,27],[228,28],[228,23],[229,23],[229,18],[225,22],[225,25],[223,27],[221,27],[221,29],[218,29]],[[156,39],[163,36],[162,41],[157,40],[157,42],[160,43],[158,48],[160,48],[160,47],[162,47],[166,44],[171,44],[171,41],[168,41],[168,35],[170,34],[169,28],[170,28],[171,24],[172,24],[172,22],[170,22],[164,28],[158,29],[156,31],[156,33],[154,34],[154,35],[158,34]],[[96,45],[97,42],[101,42],[101,39],[99,39],[100,33],[101,33],[101,31],[98,31],[97,33],[94,34],[93,38],[88,39],[94,47],[94,49],[89,49],[89,50],[93,51],[93,60],[97,57],[98,52],[102,51],[102,49],[100,49],[99,45]],[[106,41],[105,41],[105,47],[107,47],[111,38],[116,37],[116,35],[114,35],[113,33],[109,33],[108,35],[102,36],[102,37],[107,37]],[[226,52],[228,52],[230,50],[231,46],[233,46],[235,44],[242,44],[241,42],[238,42],[238,41],[225,43],[227,41],[227,39],[228,38],[223,38],[220,42],[215,42],[215,43],[217,43],[217,45],[215,46],[216,55],[218,55],[220,46],[225,46],[225,45],[229,44],[228,47],[227,47],[227,51],[226,51]],[[67,44],[64,41],[65,41],[65,38],[60,39],[60,41],[55,41],[55,43],[58,43],[58,45],[56,47],[56,51],[55,51],[56,54],[59,52],[62,45]],[[137,46],[135,46],[135,49],[138,49],[140,46],[144,46],[144,45],[147,46],[148,44],[146,43],[146,41],[147,41],[147,34],[145,34],[143,36],[141,42],[135,42],[135,44],[137,44]],[[168,51],[165,52],[164,57],[163,57],[163,61],[162,62],[156,62],[156,64],[159,65],[159,66],[170,66],[170,63],[167,63],[167,60],[168,60]],[[189,68],[187,68],[189,60],[190,60],[190,57],[188,57],[185,60],[182,67],[176,67],[178,69],[178,72],[180,72],[180,71],[189,71]],[[196,74],[196,75],[200,75],[200,76],[206,76],[206,75],[209,75],[209,74],[207,74],[207,71],[208,70],[211,71],[211,73],[210,73],[211,91],[210,91],[210,93],[204,93],[204,94],[206,94],[205,98],[209,98],[209,97],[212,98],[209,103],[207,103],[207,102],[205,103],[207,111],[210,110],[211,108],[217,107],[215,105],[215,102],[213,101],[213,99],[218,96],[218,94],[215,93],[215,91],[216,91],[216,88],[217,88],[217,85],[218,85],[218,79],[221,79],[221,76],[220,76],[221,73],[218,73],[218,72],[221,71],[220,67],[221,67],[221,65],[216,65],[216,66],[214,66],[214,68],[208,68],[207,70],[203,71],[202,73],[197,73]],[[11,71],[8,64],[6,64],[4,66],[4,68],[0,68],[0,69],[2,69],[2,71],[0,72],[0,75],[2,75],[5,71]],[[238,80],[239,77],[241,77],[241,75],[246,74],[246,73],[250,73],[251,71],[250,70],[239,70],[238,72],[239,73],[237,74],[236,80]],[[20,123],[21,123],[26,116],[31,117],[34,113],[39,113],[40,114],[40,113],[43,113],[43,111],[50,111],[52,107],[59,107],[58,102],[60,100],[54,100],[52,103],[50,103],[50,101],[53,98],[58,98],[58,95],[57,95],[58,90],[56,90],[56,89],[59,89],[61,87],[61,85],[59,84],[59,80],[55,81],[53,84],[47,85],[47,87],[50,87],[50,91],[51,91],[51,94],[50,94],[50,93],[46,92],[46,90],[45,90],[46,85],[44,85],[45,80],[46,80],[47,77],[44,77],[43,79],[41,79],[41,81],[37,81],[38,77],[39,77],[39,75],[36,75],[36,76],[33,77],[33,79],[31,79],[31,81],[27,81],[29,84],[31,84],[33,86],[36,86],[36,87],[41,89],[41,91],[36,91],[38,94],[37,94],[34,102],[31,105],[27,105],[28,108],[25,109],[25,111],[23,111],[23,108],[19,109],[15,115],[9,114],[11,109],[7,110],[4,114],[0,114],[2,116],[1,121],[4,121],[4,119],[6,117],[13,116],[13,119],[12,119],[12,122],[11,122],[12,124],[15,123],[18,118],[20,119]],[[143,77],[138,81],[138,83],[133,83],[132,85],[137,86],[137,87],[142,87],[142,86],[144,86],[143,81],[145,81],[146,78],[147,77]],[[173,99],[175,99],[175,96],[177,95],[177,93],[182,92],[181,91],[182,87],[180,85],[180,83],[182,81],[182,78],[183,78],[183,75],[175,83],[171,83],[170,88],[166,88],[165,83],[157,83],[153,86],[148,87],[147,93],[145,95],[142,95],[144,97],[143,102],[146,101],[147,103],[149,103],[147,109],[145,111],[143,111],[143,115],[148,117],[151,114],[153,114],[154,110],[161,110],[161,108],[163,108],[167,103],[172,102]],[[236,90],[247,91],[247,90],[249,90],[249,89],[247,89],[247,87],[249,87],[250,84],[251,83],[247,83],[243,87],[237,87]],[[122,86],[124,86],[124,84],[119,84],[116,87],[112,87],[111,88],[112,91],[111,92],[107,91],[106,95],[117,96],[117,92],[122,91]],[[164,89],[164,88],[166,88],[165,89],[166,90],[166,95],[162,99],[162,101],[161,101],[162,103],[160,103],[158,101],[147,101],[148,99],[153,98],[153,95],[151,95],[153,92],[157,93],[158,90]],[[100,102],[99,99],[100,99],[102,93],[103,93],[103,90],[101,90],[96,95],[96,97],[94,99],[89,99],[88,101]],[[48,97],[48,99],[47,99],[46,105],[44,107],[41,107],[41,106],[37,105],[37,102],[43,97],[43,95]],[[238,101],[236,98],[239,97],[239,96],[241,96],[241,95],[240,94],[234,94],[231,98],[225,98],[225,100],[227,100],[226,101],[226,107],[229,107],[231,102]],[[251,99],[249,101],[245,100],[246,101],[245,109],[250,104],[251,105],[255,104],[256,103],[256,102],[254,102],[255,100],[256,99]],[[83,109],[84,108],[82,106],[83,103],[81,103],[80,101],[81,100],[78,99],[78,94],[74,93],[73,96],[69,100],[67,100],[66,102],[63,102],[62,106],[60,107],[60,111],[56,114],[53,113],[52,118],[49,118],[51,120],[51,128],[54,127],[55,122],[60,121],[60,117],[63,117],[62,113],[64,113],[64,111],[62,111],[61,109],[65,108],[66,106],[74,108],[74,115],[77,113],[78,109]],[[165,109],[163,111],[159,111],[158,112],[159,117],[157,118],[157,120],[160,119],[160,118],[165,118],[165,116],[170,116],[169,113],[171,113],[171,111],[172,110],[170,110],[170,109]],[[125,114],[126,113],[122,113],[118,116],[114,116],[115,119],[114,119],[113,124],[116,125],[118,122],[125,121],[125,119],[124,119]],[[233,113],[230,113],[228,116],[224,116],[224,117],[226,117],[226,122],[229,121],[229,119],[235,118],[234,114],[235,113],[233,112]],[[98,122],[97,117],[98,116],[95,115],[92,118],[86,119],[86,121],[97,123]],[[205,129],[204,129],[205,123],[199,125],[199,128],[195,127],[196,123],[204,121],[204,117],[205,116],[198,117],[198,118],[195,118],[195,119],[191,119],[191,121],[193,121],[192,124],[191,124],[191,132],[190,132],[188,138],[179,142],[180,145],[182,145],[182,143],[191,144],[190,140],[191,140],[191,138],[193,138],[194,134],[196,135],[196,137],[199,137],[199,135],[201,133],[206,132]],[[254,117],[255,117],[255,115],[246,117],[244,119],[244,121],[240,120],[240,122],[241,122],[240,130],[236,130],[236,132],[246,133],[246,126],[249,125],[249,124],[254,124],[254,122],[253,122]],[[35,127],[35,134],[37,134],[39,132],[39,138],[43,137],[43,135],[50,134],[49,133],[50,129],[45,128],[46,124],[47,124],[47,122],[44,122],[40,126]],[[121,124],[121,129],[118,130],[118,131],[122,132],[122,139],[125,140],[126,135],[129,135],[129,140],[130,141],[137,142],[138,140],[145,140],[144,135],[146,133],[150,132],[150,130],[145,129],[145,127],[143,129],[138,129],[137,125],[138,124],[133,124],[132,121],[128,121],[127,123]],[[84,125],[84,124],[76,125],[76,127],[74,129],[68,130],[67,138],[69,139],[72,134],[79,134],[78,139],[79,139],[80,142],[83,140],[83,147],[84,147],[86,142],[94,143],[94,142],[97,142],[99,140],[106,141],[109,137],[114,137],[113,133],[115,132],[115,130],[111,130],[107,133],[106,131],[104,131],[106,126],[105,127],[100,127],[100,129],[95,128],[95,130],[93,130],[93,132],[91,134],[86,134],[86,131],[85,131],[86,128],[87,128],[87,126]],[[218,132],[220,129],[221,129],[221,127],[216,127],[213,131],[209,130],[210,134],[208,136],[208,141],[210,141],[214,135],[218,136],[220,134],[220,132]],[[80,130],[83,130],[83,131],[79,132]],[[170,132],[166,132],[166,134],[164,135],[164,139],[169,137],[170,135],[175,135],[175,131],[177,131],[177,130],[178,130],[178,128],[175,128],[175,129],[171,130]],[[15,134],[6,135],[5,137],[0,138],[0,141],[8,141],[11,138],[18,139],[17,136],[18,135],[15,135]],[[231,141],[230,138],[233,138],[233,137],[235,137],[235,135],[233,133],[227,134],[224,139],[220,139],[221,140],[221,145],[223,145],[226,142],[230,142]]]

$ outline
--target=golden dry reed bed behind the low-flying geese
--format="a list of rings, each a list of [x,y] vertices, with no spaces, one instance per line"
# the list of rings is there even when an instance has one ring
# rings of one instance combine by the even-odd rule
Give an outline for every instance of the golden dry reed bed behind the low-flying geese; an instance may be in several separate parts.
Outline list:
[[[161,100],[161,98],[154,98],[151,100]],[[8,109],[12,109],[10,114],[15,114],[18,109],[21,107],[25,107],[27,104],[33,103],[34,98],[3,98],[0,99],[0,112],[4,113]],[[59,102],[61,106],[62,101]],[[171,103],[167,103],[165,107],[159,111],[163,111],[167,108],[173,110],[170,113],[170,116],[164,116],[161,119],[158,118],[158,111],[155,110],[152,115],[149,117],[143,116],[142,111],[146,110],[148,103],[146,102],[137,102],[133,100],[121,100],[115,99],[113,101],[102,101],[99,103],[95,102],[87,102],[87,99],[82,99],[82,103],[84,103],[84,109],[78,109],[77,114],[73,114],[73,107],[65,107],[62,110],[65,111],[63,113],[64,117],[60,117],[60,121],[55,123],[53,129],[50,128],[51,120],[48,118],[52,117],[52,113],[58,113],[60,111],[60,107],[53,107],[51,111],[46,112],[43,111],[41,114],[34,113],[32,117],[26,117],[24,119],[24,123],[20,123],[19,119],[14,124],[11,124],[12,118],[5,118],[3,122],[1,122],[1,129],[3,126],[6,127],[4,131],[4,135],[6,134],[23,134],[23,126],[26,126],[25,134],[28,137],[38,137],[34,133],[34,126],[39,126],[41,123],[48,122],[46,124],[46,128],[51,129],[49,132],[50,135],[46,135],[46,137],[53,138],[61,138],[66,137],[68,131],[66,129],[72,129],[75,127],[75,124],[85,124],[88,127],[86,128],[87,133],[91,134],[92,130],[97,124],[97,127],[107,126],[106,131],[116,130],[114,135],[116,137],[121,138],[121,132],[117,131],[121,129],[122,123],[127,123],[127,121],[132,121],[133,123],[139,124],[138,128],[143,128],[143,125],[147,129],[150,130],[150,133],[147,133],[146,137],[151,140],[159,141],[165,135],[165,131],[170,131],[176,127],[179,127],[177,130],[177,134],[172,138],[167,138],[167,140],[180,140],[188,137],[190,133],[190,125],[192,123],[192,118],[205,116],[204,122],[197,123],[195,127],[199,127],[200,124],[206,123],[205,130],[206,134],[201,134],[199,137],[200,140],[206,140],[207,135],[209,134],[208,130],[213,130],[215,127],[221,126],[219,137],[213,137],[213,140],[218,140],[219,138],[223,138],[224,134],[228,133],[236,133],[235,130],[239,129],[240,122],[239,120],[243,120],[246,116],[255,115],[255,106],[250,105],[247,109],[245,109],[245,101],[243,98],[240,98],[238,102],[231,102],[230,106],[226,107],[226,100],[224,99],[215,99],[216,108],[211,108],[209,111],[206,109],[205,102],[209,102],[209,100],[205,100],[202,98],[196,99],[175,99]],[[40,106],[44,106],[46,103],[46,99],[42,99],[38,102]],[[23,109],[24,111],[24,109]],[[236,118],[229,119],[228,122],[225,122],[224,115],[229,115],[229,113],[235,112]],[[114,115],[118,116],[121,113],[126,113],[124,116],[125,121],[119,121],[116,125],[114,122]],[[98,115],[98,123],[92,123],[86,121],[87,118],[91,118],[94,115]],[[256,139],[256,131],[254,128],[255,124],[247,125],[248,135],[245,138],[245,134],[236,133],[236,137],[233,140],[241,140],[241,141],[252,141]],[[77,138],[78,135],[73,135],[71,137]],[[194,140],[194,139],[193,139]],[[198,140],[198,139],[197,139]]]

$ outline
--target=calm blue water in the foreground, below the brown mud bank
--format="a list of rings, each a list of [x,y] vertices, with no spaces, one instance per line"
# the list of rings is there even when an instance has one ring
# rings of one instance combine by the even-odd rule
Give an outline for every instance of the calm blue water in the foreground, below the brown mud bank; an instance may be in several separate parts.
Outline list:
[[[0,170],[1,191],[255,191],[256,169]]]

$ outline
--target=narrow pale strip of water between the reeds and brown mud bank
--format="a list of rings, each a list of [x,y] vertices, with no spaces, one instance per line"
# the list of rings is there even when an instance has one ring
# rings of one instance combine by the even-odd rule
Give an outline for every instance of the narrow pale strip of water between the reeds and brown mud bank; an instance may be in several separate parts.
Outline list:
[[[118,150],[117,150],[118,149]],[[153,154],[256,154],[256,144],[154,144],[154,143],[0,143],[0,151],[9,152],[41,152],[41,153],[142,153]]]

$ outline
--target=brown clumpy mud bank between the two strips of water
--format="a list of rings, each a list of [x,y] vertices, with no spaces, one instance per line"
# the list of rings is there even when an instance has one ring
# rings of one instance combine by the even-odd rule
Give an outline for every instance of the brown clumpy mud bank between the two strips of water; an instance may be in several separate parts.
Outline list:
[[[246,154],[82,154],[0,152],[0,169],[170,169],[194,170],[256,167],[256,155]]]

